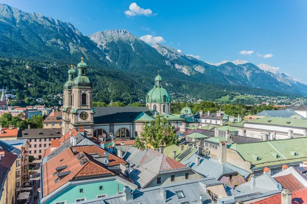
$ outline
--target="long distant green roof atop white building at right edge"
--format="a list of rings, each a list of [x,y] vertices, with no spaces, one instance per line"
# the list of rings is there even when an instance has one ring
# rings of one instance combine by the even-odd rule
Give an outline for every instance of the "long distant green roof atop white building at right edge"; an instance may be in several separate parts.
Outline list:
[[[248,123],[303,127],[307,129],[307,120],[297,118],[264,117]]]

